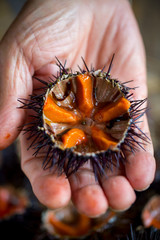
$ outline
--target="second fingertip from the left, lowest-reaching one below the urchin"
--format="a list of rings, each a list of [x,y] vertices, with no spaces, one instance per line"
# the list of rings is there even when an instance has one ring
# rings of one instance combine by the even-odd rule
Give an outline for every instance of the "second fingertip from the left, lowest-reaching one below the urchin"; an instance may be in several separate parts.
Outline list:
[[[89,164],[71,175],[69,181],[72,200],[79,212],[89,217],[97,217],[106,212],[108,201]]]

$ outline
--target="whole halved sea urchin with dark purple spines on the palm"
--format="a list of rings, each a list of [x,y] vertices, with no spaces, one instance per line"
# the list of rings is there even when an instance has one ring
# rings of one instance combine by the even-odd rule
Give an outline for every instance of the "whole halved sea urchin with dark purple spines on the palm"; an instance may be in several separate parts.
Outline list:
[[[127,87],[131,81],[111,78],[113,57],[107,72],[89,70],[83,60],[85,70],[72,73],[57,59],[54,79],[35,77],[44,85],[42,93],[19,99],[21,108],[35,111],[23,131],[33,139],[29,148],[35,156],[40,149],[46,153],[44,169],[56,167],[68,177],[90,161],[98,178],[106,168],[125,163],[128,152],[144,149],[148,137],[137,124],[146,112],[141,109],[146,99],[133,100],[134,88]]]

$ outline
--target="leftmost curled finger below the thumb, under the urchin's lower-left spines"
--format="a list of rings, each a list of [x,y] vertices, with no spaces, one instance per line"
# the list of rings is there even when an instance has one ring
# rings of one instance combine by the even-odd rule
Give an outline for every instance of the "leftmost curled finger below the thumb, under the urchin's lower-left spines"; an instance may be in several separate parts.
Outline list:
[[[45,153],[33,157],[33,150],[26,150],[29,142],[21,135],[21,166],[29,178],[38,200],[49,208],[66,206],[71,198],[71,190],[65,175],[58,176],[52,169],[44,170],[42,163]]]

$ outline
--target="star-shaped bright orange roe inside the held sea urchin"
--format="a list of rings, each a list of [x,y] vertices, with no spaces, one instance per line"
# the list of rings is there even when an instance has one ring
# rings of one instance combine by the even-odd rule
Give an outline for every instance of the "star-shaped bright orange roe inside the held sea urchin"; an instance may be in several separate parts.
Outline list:
[[[76,76],[76,89],[73,102],[68,108],[55,101],[52,91],[46,95],[43,118],[50,129],[49,134],[53,136],[52,139],[63,149],[74,148],[75,151],[83,154],[115,150],[120,141],[106,132],[106,125],[128,113],[130,101],[121,95],[116,101],[104,106],[98,105],[95,101],[93,77],[90,73]],[[65,127],[59,134],[54,131],[52,124]]]

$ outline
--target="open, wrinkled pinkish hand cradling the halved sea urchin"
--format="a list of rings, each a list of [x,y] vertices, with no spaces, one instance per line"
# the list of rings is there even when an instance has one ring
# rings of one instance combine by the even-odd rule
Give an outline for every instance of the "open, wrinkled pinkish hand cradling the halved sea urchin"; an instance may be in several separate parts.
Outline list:
[[[55,56],[68,67],[83,67],[81,56],[95,69],[102,68],[115,53],[111,75],[120,81],[134,80],[134,96],[147,96],[145,53],[142,39],[126,0],[32,0],[28,1],[0,43],[0,148],[18,136],[17,127],[26,120],[17,99],[28,98],[36,86],[34,74],[45,78],[57,72]],[[148,134],[146,117],[142,130]],[[110,206],[124,210],[135,201],[136,190],[146,189],[154,179],[152,144],[128,155],[125,167],[107,172],[98,184],[89,164],[66,179],[43,171],[43,154],[33,158],[29,143],[20,136],[22,169],[40,202],[50,208],[73,200],[78,211],[91,216]]]

